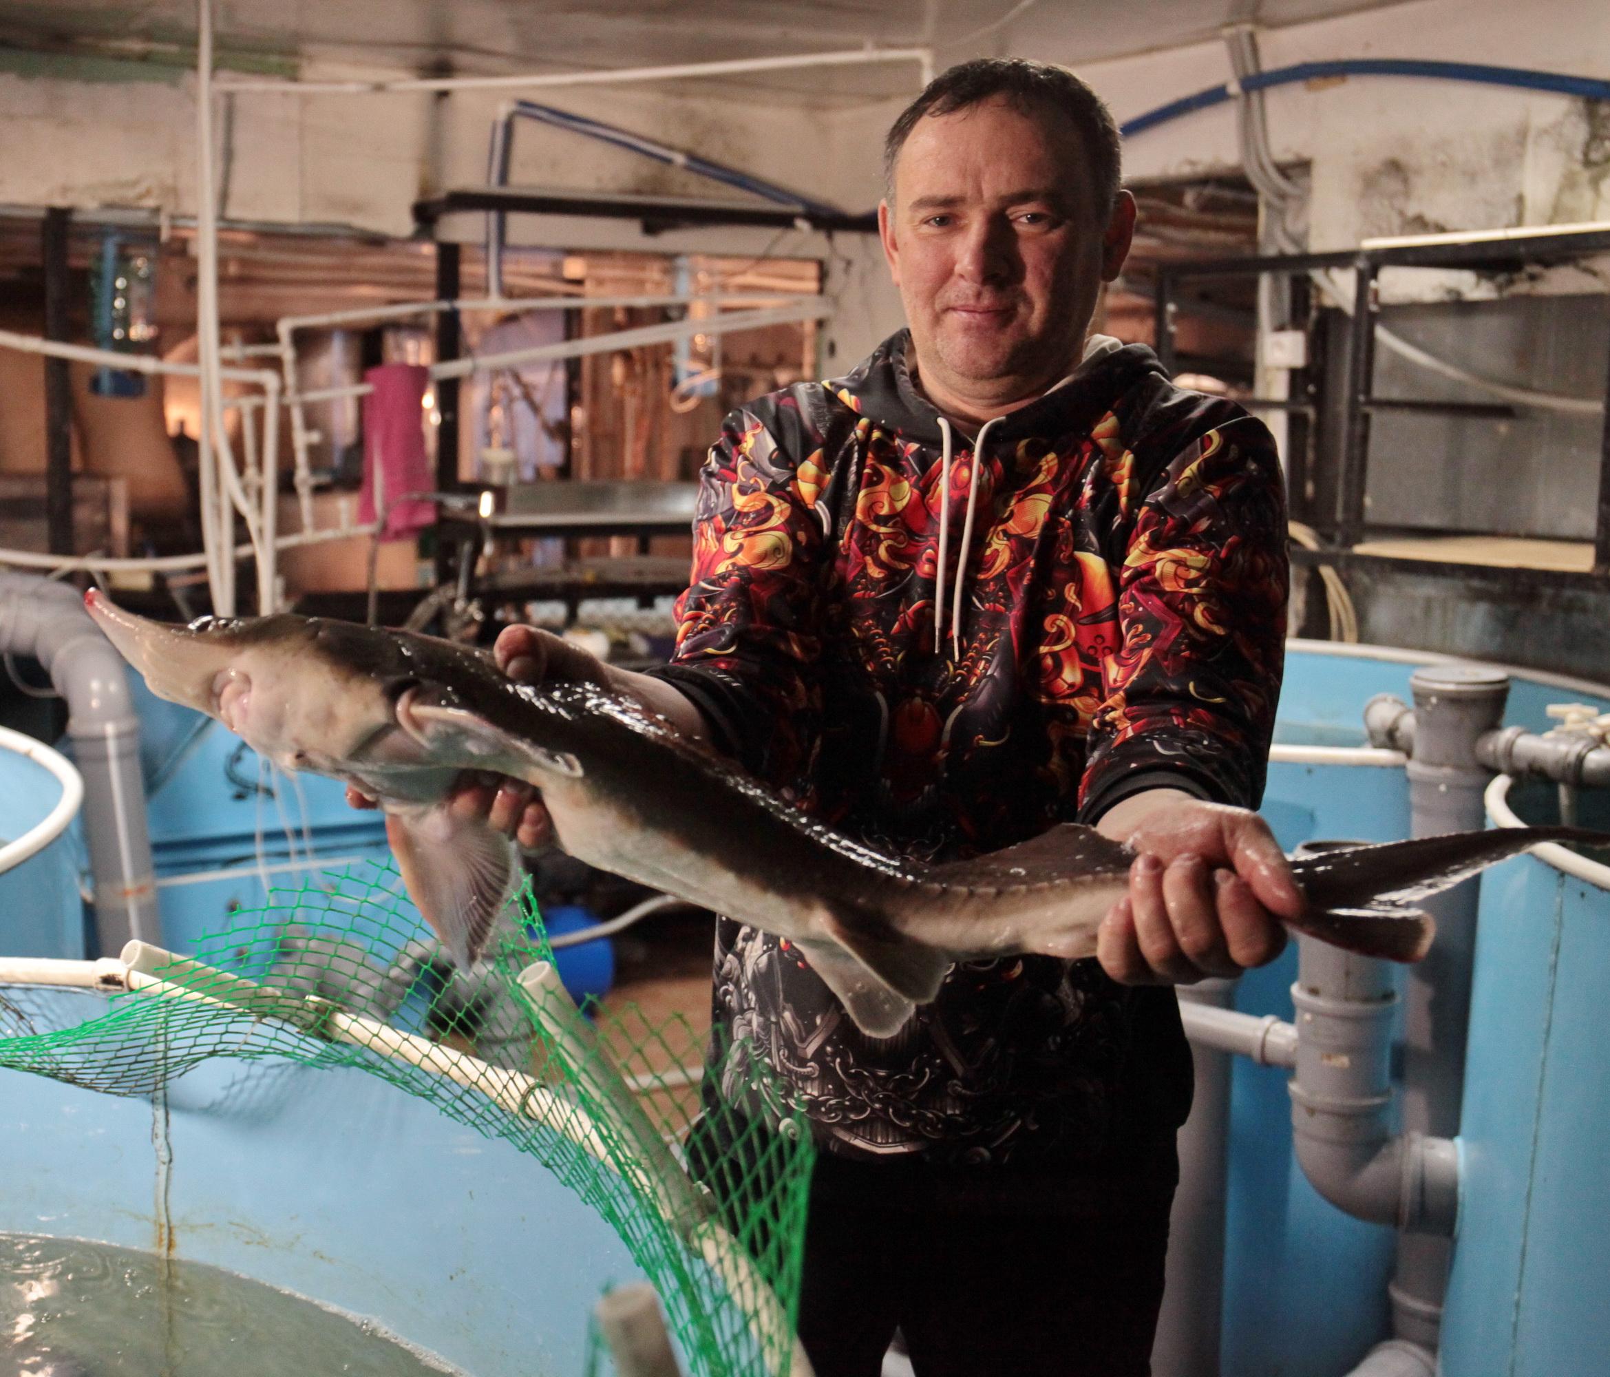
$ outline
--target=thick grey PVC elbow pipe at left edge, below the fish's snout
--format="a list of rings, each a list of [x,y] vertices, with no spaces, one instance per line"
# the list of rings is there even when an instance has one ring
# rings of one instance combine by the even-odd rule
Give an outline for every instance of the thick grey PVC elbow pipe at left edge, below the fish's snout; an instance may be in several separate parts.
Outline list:
[[[98,949],[118,952],[130,937],[158,941],[140,722],[122,655],[90,620],[76,588],[6,572],[0,572],[0,649],[39,660],[68,702],[68,736],[84,775]]]

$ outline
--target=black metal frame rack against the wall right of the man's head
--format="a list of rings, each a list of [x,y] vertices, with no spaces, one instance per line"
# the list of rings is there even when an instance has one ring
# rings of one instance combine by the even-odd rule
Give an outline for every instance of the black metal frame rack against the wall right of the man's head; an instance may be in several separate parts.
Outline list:
[[[1422,411],[1451,416],[1505,419],[1515,409],[1505,403],[1465,401],[1417,401],[1375,396],[1375,327],[1380,314],[1378,277],[1385,267],[1462,267],[1476,271],[1513,272],[1533,264],[1568,263],[1589,254],[1610,251],[1610,227],[1584,227],[1552,234],[1515,234],[1499,230],[1491,235],[1473,234],[1454,238],[1426,238],[1423,242],[1381,242],[1341,253],[1269,254],[1257,258],[1203,259],[1198,263],[1172,263],[1159,266],[1156,285],[1156,338],[1158,356],[1164,367],[1174,370],[1174,319],[1180,309],[1190,309],[1182,301],[1180,287],[1190,280],[1225,277],[1274,275],[1291,283],[1293,306],[1298,319],[1307,316],[1311,293],[1309,274],[1328,269],[1351,269],[1354,279],[1352,311],[1348,320],[1348,382],[1341,406],[1341,433],[1335,454],[1335,512],[1311,512],[1304,509],[1304,493],[1315,465],[1327,456],[1319,453],[1315,420],[1320,412],[1319,369],[1312,364],[1293,370],[1293,395],[1290,398],[1249,398],[1249,411],[1286,411],[1296,422],[1293,443],[1288,446],[1288,486],[1293,491],[1293,515],[1314,525],[1328,549],[1293,551],[1301,564],[1346,564],[1349,552],[1370,533],[1388,528],[1365,519],[1365,482],[1368,477],[1370,419],[1378,411]],[[1547,583],[1591,583],[1602,588],[1610,577],[1610,374],[1605,378],[1605,430],[1599,469],[1599,501],[1594,523],[1592,573],[1560,573],[1552,570],[1504,570],[1505,575],[1521,575]],[[1426,564],[1462,577],[1491,577],[1496,570],[1467,564]]]

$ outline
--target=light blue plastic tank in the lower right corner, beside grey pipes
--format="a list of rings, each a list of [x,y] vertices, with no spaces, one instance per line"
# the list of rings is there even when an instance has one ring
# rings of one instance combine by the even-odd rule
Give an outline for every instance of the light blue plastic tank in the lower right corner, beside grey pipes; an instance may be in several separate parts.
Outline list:
[[[1494,825],[1554,821],[1549,786],[1488,791]],[[1583,820],[1604,826],[1597,804]],[[1443,1317],[1447,1377],[1610,1372],[1610,866],[1534,854],[1481,884]]]

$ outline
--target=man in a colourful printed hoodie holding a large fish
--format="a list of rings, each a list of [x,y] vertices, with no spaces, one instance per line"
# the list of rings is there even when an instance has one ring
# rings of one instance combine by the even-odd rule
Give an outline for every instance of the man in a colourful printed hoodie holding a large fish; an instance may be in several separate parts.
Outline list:
[[[1269,433],[1087,338],[1135,222],[1071,74],[955,68],[889,135],[879,225],[910,329],[728,417],[671,665],[530,628],[515,678],[612,683],[834,826],[953,858],[1079,818],[1130,842],[1098,961],[977,961],[892,1039],[723,920],[716,1024],[816,1127],[800,1334],[873,1377],[1145,1374],[1190,1052],[1167,986],[1274,958],[1290,871],[1248,808],[1278,693]],[[465,796],[533,844],[539,804]]]

